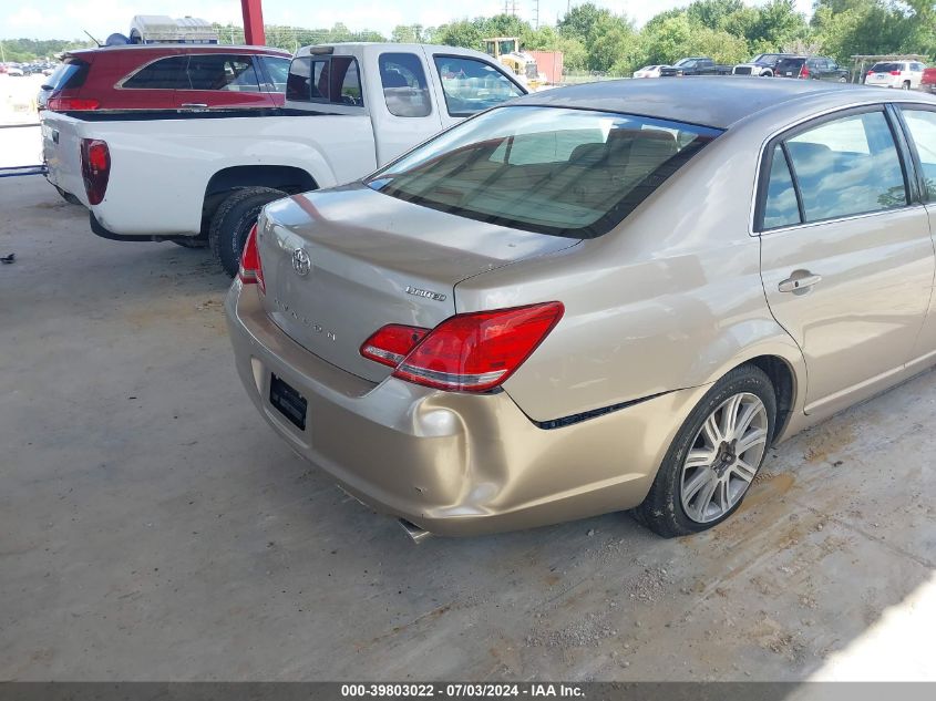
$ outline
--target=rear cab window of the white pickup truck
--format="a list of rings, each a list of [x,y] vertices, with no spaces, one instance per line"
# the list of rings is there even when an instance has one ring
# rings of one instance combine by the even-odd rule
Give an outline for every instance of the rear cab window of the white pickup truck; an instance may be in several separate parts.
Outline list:
[[[292,59],[286,80],[286,99],[297,102],[363,105],[357,60],[352,56]]]

